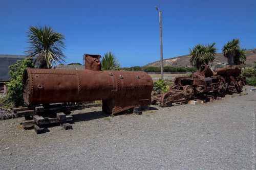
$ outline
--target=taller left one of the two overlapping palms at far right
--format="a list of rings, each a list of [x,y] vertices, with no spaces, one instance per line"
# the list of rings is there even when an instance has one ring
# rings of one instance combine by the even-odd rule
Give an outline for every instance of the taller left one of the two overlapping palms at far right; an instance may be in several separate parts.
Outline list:
[[[222,53],[224,57],[227,58],[227,62],[229,65],[234,65],[234,60],[239,53],[239,39],[233,39],[232,41],[228,41],[222,48]]]

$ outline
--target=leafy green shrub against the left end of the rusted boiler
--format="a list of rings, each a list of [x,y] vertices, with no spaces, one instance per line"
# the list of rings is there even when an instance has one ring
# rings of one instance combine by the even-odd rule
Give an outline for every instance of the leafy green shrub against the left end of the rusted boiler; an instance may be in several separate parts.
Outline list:
[[[12,103],[14,106],[23,106],[23,74],[27,67],[34,68],[31,59],[18,60],[16,64],[9,66],[10,81],[6,83],[8,94],[5,99],[6,104]]]

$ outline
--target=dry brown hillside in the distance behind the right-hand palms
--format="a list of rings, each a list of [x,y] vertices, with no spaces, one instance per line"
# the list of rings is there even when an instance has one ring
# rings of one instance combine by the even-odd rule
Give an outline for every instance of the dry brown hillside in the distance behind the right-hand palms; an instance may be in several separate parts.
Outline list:
[[[256,54],[253,53],[252,50],[246,50],[246,65],[253,65],[256,62]],[[223,56],[222,53],[217,53],[215,60],[213,62],[214,65],[217,64],[226,64],[227,59]],[[189,63],[189,55],[168,58],[163,60],[164,66],[174,66],[174,67],[191,67]],[[148,63],[146,66],[158,66],[160,67],[160,61],[156,61],[153,63]]]

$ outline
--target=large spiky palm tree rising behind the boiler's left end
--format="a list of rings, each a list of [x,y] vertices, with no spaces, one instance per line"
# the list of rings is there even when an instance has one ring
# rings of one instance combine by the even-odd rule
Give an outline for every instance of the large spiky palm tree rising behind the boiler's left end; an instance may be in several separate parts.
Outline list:
[[[64,36],[54,32],[51,27],[30,27],[28,32],[28,57],[34,58],[39,68],[54,68],[65,62],[62,50],[65,48]]]

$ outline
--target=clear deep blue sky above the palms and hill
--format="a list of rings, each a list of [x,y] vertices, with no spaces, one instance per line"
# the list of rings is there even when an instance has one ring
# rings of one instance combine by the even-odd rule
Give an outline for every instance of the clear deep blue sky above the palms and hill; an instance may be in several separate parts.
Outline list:
[[[29,26],[51,26],[65,35],[67,63],[82,55],[113,52],[121,66],[159,60],[158,15],[163,11],[163,57],[188,54],[198,43],[233,38],[256,47],[255,0],[0,0],[0,54],[24,54]]]

